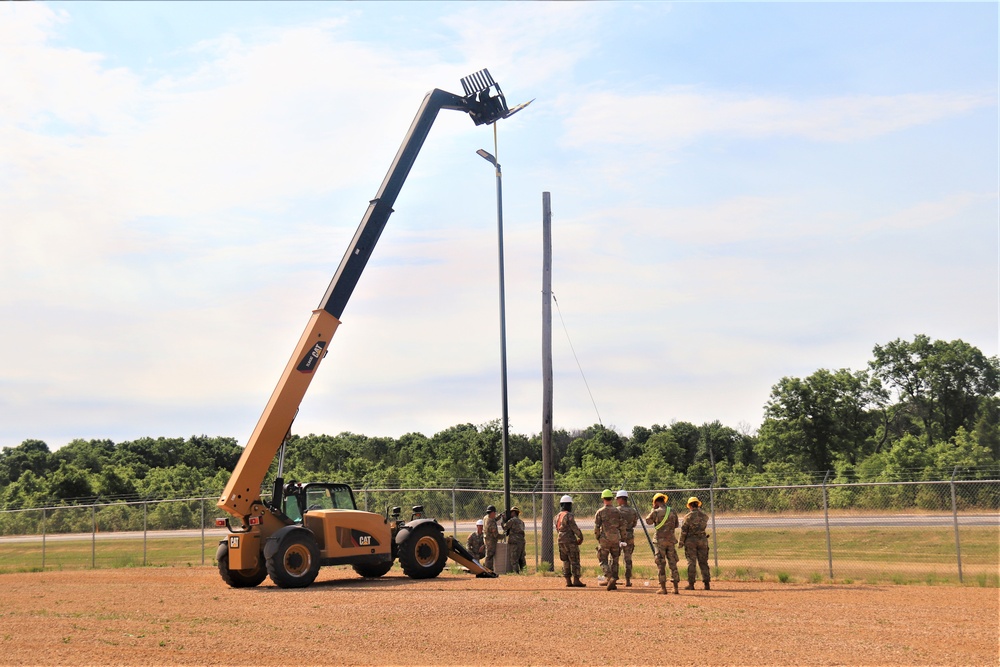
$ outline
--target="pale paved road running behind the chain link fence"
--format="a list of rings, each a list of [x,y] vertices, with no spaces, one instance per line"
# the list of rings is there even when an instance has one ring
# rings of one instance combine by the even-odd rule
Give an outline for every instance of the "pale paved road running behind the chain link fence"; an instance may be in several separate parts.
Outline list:
[[[532,530],[534,521],[528,518],[525,523],[527,529]],[[541,520],[539,520],[541,523]],[[453,530],[454,523],[448,520],[441,520],[446,532]],[[594,530],[594,520],[577,519],[577,524],[585,533]],[[958,516],[959,526],[993,526],[1000,528],[1000,513],[993,514],[960,514]],[[819,516],[720,516],[715,519],[716,530],[739,529],[739,528],[824,528],[826,523],[822,515]],[[831,516],[831,528],[950,528],[954,526],[954,519],[950,514],[885,514],[880,516]],[[541,527],[541,526],[539,526]],[[476,529],[475,521],[459,521],[458,534],[466,536]],[[197,538],[201,537],[201,530],[156,530],[146,533],[147,539],[166,540],[177,538]],[[219,528],[206,528],[205,540],[214,542],[222,539],[226,534],[225,530]],[[107,540],[135,540],[141,539],[141,532],[122,533],[97,533],[98,541]],[[50,534],[45,536],[46,542],[67,542],[79,540],[92,540],[91,533],[71,533],[71,534]],[[0,537],[2,544],[18,544],[41,542],[41,535],[13,535]]]

